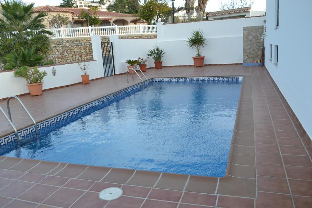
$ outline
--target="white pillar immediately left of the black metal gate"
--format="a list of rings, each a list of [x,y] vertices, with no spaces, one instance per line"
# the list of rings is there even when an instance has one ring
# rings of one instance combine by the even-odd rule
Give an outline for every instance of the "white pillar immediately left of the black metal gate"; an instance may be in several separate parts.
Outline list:
[[[91,43],[92,43],[93,59],[97,60],[98,77],[103,77],[104,76],[104,67],[103,67],[101,36],[92,35],[91,36]]]

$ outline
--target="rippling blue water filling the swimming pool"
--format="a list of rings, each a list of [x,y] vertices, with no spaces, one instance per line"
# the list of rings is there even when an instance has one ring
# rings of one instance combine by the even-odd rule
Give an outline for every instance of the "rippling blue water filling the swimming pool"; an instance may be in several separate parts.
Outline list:
[[[151,83],[5,156],[222,177],[241,83]]]

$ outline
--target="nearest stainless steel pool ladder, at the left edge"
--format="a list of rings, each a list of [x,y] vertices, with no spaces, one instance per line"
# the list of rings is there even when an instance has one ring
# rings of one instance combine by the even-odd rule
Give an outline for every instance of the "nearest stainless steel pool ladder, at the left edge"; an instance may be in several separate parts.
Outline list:
[[[35,121],[34,118],[32,118],[32,115],[29,113],[29,111],[27,110],[27,108],[25,107],[25,105],[23,104],[22,100],[19,99],[17,96],[10,96],[7,99],[7,112],[8,112],[8,116],[7,114],[4,112],[3,108],[0,105],[0,110],[2,112],[2,114],[4,115],[4,117],[7,119],[7,121],[10,123],[10,125],[12,126],[12,128],[14,129],[15,135],[16,135],[16,139],[17,139],[17,143],[18,143],[18,148],[21,148],[21,144],[20,144],[20,138],[18,136],[18,132],[17,132],[17,128],[14,126],[13,122],[12,122],[12,117],[11,117],[11,110],[10,110],[10,99],[12,98],[16,98],[17,101],[22,105],[23,109],[26,111],[26,113],[28,114],[28,116],[30,117],[30,119],[32,119],[32,122],[35,125],[35,131],[36,131],[36,137],[37,139],[39,139],[39,134],[38,134],[38,128],[37,128],[37,123]]]

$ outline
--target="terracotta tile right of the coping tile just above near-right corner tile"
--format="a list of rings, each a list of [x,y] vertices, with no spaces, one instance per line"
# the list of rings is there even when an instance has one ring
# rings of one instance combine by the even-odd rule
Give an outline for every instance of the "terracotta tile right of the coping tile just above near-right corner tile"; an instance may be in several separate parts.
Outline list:
[[[286,177],[283,165],[257,163],[256,168],[258,176]]]

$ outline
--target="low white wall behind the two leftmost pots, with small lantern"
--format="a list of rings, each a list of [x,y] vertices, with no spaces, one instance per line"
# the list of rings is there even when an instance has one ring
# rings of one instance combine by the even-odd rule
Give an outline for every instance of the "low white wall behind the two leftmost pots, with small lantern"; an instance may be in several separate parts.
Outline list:
[[[104,72],[98,73],[96,60],[88,61],[85,63],[89,65],[88,74],[90,79],[104,76]],[[83,64],[84,62],[80,63],[81,66]],[[55,76],[52,75],[53,67],[56,69]],[[38,69],[40,71],[45,70],[47,72],[47,76],[43,80],[43,89],[49,89],[52,87],[59,87],[81,82],[81,75],[83,75],[78,63],[47,66]],[[14,77],[12,71],[0,73],[0,83],[2,86],[0,87],[0,98],[7,98],[11,95],[18,95],[29,92],[26,86],[26,80],[21,77]]]

